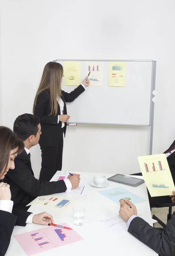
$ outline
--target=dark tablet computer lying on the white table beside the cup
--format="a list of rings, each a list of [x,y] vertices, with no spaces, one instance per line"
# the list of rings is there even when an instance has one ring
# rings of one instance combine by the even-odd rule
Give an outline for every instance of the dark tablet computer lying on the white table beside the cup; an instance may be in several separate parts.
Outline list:
[[[127,176],[127,175],[122,175],[122,174],[116,174],[112,177],[109,177],[108,180],[122,183],[128,186],[138,186],[144,182],[144,180],[142,179]]]

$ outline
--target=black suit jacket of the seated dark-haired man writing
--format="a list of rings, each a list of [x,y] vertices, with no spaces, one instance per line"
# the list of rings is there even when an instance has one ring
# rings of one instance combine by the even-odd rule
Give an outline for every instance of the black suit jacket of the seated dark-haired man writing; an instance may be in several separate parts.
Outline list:
[[[37,196],[61,193],[67,189],[63,180],[52,182],[37,180],[34,177],[30,157],[25,150],[17,155],[14,164],[14,170],[9,170],[3,181],[10,185],[11,198],[17,209],[23,209],[22,206],[26,206]]]

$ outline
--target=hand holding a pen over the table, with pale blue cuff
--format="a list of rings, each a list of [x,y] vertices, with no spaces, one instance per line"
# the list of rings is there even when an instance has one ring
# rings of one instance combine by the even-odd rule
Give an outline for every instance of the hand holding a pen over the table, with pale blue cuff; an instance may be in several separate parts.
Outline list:
[[[138,214],[135,205],[132,204],[129,200],[120,199],[119,202],[120,202],[119,215],[120,215],[120,218],[123,219],[123,221],[128,222],[129,218],[131,218],[132,215]],[[129,205],[131,206],[131,208],[129,207]]]

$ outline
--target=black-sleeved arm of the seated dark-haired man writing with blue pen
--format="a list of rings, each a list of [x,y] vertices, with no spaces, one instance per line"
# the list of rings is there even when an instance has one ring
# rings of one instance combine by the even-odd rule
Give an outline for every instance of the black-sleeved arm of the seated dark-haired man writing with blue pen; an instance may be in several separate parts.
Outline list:
[[[40,195],[52,195],[66,192],[64,180],[39,181],[28,169],[26,163],[21,159],[15,159],[15,169],[9,170],[8,177],[19,186],[24,192],[36,198]]]

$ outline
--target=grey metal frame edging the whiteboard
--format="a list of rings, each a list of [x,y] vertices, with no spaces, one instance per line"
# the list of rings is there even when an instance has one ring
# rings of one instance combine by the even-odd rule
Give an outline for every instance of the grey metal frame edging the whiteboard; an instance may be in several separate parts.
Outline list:
[[[126,61],[126,62],[152,62],[152,78],[151,78],[151,91],[150,91],[150,108],[149,108],[149,125],[133,125],[133,124],[103,124],[103,123],[82,123],[77,122],[77,124],[83,124],[83,125],[120,125],[120,126],[147,126],[150,127],[150,143],[149,143],[149,154],[152,154],[152,143],[153,143],[153,126],[154,126],[154,106],[155,102],[152,101],[153,94],[152,92],[155,90],[155,77],[156,77],[156,61],[153,60],[95,60],[95,59],[56,59],[54,62],[59,61]]]

